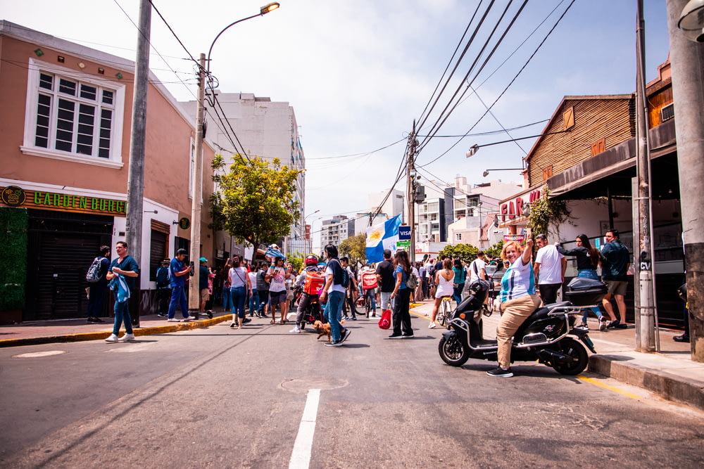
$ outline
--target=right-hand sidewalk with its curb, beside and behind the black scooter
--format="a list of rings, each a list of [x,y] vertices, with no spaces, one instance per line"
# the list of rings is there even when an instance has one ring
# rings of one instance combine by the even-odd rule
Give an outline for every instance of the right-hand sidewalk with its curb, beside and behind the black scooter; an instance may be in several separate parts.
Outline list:
[[[430,316],[432,303],[423,302],[411,311]],[[485,338],[496,338],[498,318],[498,314],[484,317]],[[660,328],[660,352],[641,353],[634,352],[636,332],[632,324],[628,329],[601,332],[596,318],[590,318],[588,323],[589,337],[597,352],[590,352],[589,371],[704,410],[704,363],[691,360],[689,344],[672,340],[681,331]]]

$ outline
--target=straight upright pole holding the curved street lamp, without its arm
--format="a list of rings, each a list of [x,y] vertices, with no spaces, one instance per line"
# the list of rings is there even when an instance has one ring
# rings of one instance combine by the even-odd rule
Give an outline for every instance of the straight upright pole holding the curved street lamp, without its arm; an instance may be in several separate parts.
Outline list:
[[[201,257],[201,199],[203,198],[203,109],[206,101],[206,54],[201,53],[196,97],[196,160],[193,168],[191,194],[191,281],[188,285],[189,316],[198,317],[201,306],[199,289]]]

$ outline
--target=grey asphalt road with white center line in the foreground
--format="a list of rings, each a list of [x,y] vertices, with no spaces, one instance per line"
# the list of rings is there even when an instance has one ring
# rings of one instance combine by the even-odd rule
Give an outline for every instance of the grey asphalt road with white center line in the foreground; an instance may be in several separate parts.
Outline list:
[[[293,454],[311,468],[704,464],[701,413],[539,364],[515,365],[510,379],[487,376],[489,362],[446,366],[441,330],[413,325],[415,339],[386,340],[375,322],[349,322],[339,348],[255,319],[244,330],[0,349],[0,463],[285,468]],[[16,357],[49,351],[65,353]]]

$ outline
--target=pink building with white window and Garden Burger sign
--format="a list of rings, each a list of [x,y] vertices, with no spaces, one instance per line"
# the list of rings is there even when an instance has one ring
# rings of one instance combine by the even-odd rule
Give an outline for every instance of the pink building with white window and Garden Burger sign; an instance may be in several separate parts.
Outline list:
[[[99,246],[114,256],[125,240],[134,63],[7,21],[0,58],[0,211],[27,212],[26,301],[0,311],[0,323],[82,317]],[[146,117],[142,314],[156,306],[158,262],[189,248],[182,226],[191,218],[196,138],[194,122],[153,76]],[[208,259],[213,155],[206,144],[200,229]]]

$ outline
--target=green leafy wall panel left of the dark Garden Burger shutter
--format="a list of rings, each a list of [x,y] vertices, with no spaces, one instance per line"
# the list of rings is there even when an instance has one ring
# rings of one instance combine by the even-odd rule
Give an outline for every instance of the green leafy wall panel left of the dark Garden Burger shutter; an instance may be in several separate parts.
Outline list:
[[[0,311],[25,307],[28,226],[26,209],[0,207]]]

